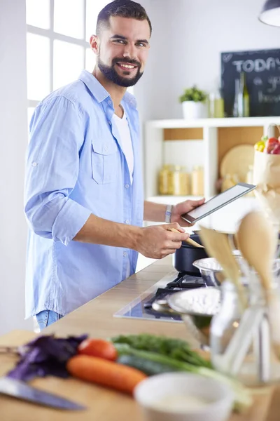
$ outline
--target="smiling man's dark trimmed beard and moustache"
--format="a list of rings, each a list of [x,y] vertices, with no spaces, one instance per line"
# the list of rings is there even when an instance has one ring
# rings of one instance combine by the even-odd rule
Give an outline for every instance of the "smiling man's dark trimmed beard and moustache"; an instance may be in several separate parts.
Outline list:
[[[130,72],[123,71],[123,76],[120,76],[115,70],[115,65],[117,62],[125,62],[130,65],[137,66],[137,74],[130,78],[125,77],[130,74]],[[137,60],[129,60],[129,59],[123,59],[123,58],[113,58],[112,65],[107,66],[100,60],[100,55],[97,57],[97,66],[99,67],[100,71],[104,74],[106,79],[109,79],[109,81],[112,81],[113,83],[116,83],[118,86],[123,86],[124,88],[128,88],[129,86],[134,86],[135,83],[139,81],[141,78],[143,72],[140,72],[141,63],[139,63]]]

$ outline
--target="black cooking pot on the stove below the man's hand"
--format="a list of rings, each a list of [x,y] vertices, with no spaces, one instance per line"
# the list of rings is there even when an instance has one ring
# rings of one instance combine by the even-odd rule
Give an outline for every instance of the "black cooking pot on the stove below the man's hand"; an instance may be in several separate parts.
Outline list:
[[[192,234],[190,238],[202,244],[199,234]],[[203,244],[202,244],[203,245]],[[199,259],[208,258],[205,248],[191,246],[186,241],[182,242],[181,248],[173,255],[173,265],[178,272],[188,272],[192,275],[200,275],[200,269],[193,266],[193,262]]]

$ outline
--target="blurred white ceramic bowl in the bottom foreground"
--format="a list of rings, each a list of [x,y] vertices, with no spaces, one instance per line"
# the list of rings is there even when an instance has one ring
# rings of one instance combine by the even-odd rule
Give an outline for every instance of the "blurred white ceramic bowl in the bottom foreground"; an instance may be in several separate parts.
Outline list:
[[[139,383],[134,398],[146,421],[225,421],[231,413],[234,394],[218,380],[192,373],[165,373]],[[188,401],[185,408],[172,408],[172,403],[178,404],[181,398],[202,399],[204,403],[190,408]]]

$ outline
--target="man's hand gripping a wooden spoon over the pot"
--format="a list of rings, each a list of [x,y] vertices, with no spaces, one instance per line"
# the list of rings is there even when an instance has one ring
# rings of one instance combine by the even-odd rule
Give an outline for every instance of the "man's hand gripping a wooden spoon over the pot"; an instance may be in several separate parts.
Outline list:
[[[179,232],[171,232],[170,228]],[[136,250],[146,258],[162,259],[175,253],[190,235],[184,232],[179,224],[154,225],[141,228]]]

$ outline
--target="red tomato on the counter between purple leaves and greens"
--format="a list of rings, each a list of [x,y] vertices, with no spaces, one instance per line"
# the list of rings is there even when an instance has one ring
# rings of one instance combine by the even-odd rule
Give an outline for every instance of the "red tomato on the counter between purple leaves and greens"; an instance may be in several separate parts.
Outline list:
[[[99,358],[116,361],[118,352],[111,342],[104,339],[85,339],[78,346],[78,354],[99,356]]]

